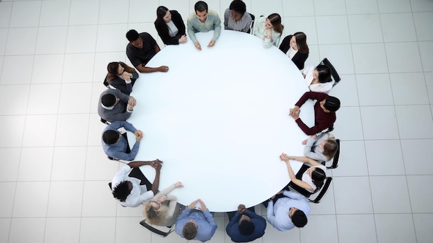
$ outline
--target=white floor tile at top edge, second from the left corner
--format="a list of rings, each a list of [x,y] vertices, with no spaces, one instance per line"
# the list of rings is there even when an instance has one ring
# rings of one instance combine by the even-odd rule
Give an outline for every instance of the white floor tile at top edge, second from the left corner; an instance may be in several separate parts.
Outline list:
[[[15,1],[12,5],[9,27],[37,27],[41,3],[42,1]],[[28,11],[29,9],[35,11]]]

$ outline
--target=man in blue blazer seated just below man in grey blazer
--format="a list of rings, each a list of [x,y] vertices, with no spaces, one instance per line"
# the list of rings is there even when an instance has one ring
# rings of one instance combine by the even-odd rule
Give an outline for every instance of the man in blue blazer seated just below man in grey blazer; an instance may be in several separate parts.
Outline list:
[[[136,143],[132,149],[129,150],[127,136],[121,135],[118,131],[119,128],[125,128],[136,135]],[[102,133],[102,148],[105,154],[112,159],[122,159],[125,161],[132,161],[136,158],[138,148],[140,148],[140,141],[142,139],[142,131],[137,130],[126,121],[113,122],[108,125]]]

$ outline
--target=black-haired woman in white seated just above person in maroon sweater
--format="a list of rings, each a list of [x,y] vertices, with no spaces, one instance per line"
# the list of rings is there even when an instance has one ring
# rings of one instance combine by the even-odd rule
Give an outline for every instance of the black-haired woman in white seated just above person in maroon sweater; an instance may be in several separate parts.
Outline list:
[[[329,93],[333,87],[333,80],[331,78],[331,68],[326,65],[320,64],[313,68],[308,66],[302,72],[305,78],[306,85],[313,92]]]

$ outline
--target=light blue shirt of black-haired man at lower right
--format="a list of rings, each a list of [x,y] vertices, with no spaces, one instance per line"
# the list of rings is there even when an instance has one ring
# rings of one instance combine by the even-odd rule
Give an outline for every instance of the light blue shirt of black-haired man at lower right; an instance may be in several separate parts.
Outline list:
[[[304,212],[306,216],[310,215],[310,203],[300,193],[293,191],[284,191],[286,197],[281,197],[277,202],[268,203],[268,222],[279,231],[288,231],[295,228],[291,218],[288,216],[291,207],[297,208]]]

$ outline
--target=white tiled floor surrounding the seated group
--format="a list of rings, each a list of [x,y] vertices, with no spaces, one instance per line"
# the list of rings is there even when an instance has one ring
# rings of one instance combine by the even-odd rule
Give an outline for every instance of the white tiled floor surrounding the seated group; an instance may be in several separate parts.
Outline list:
[[[119,164],[100,146],[96,102],[125,32],[147,31],[159,5],[184,19],[195,0],[35,0],[0,3],[0,242],[185,242],[140,229],[107,182]],[[223,11],[230,0],[208,0]],[[432,242],[433,1],[246,0],[303,30],[307,64],[328,57],[342,76],[335,135],[340,167],[307,226],[255,242]],[[430,27],[429,27],[430,26]],[[160,46],[163,46],[158,39]],[[257,211],[266,215],[265,209]],[[210,242],[230,242],[227,218]]]

